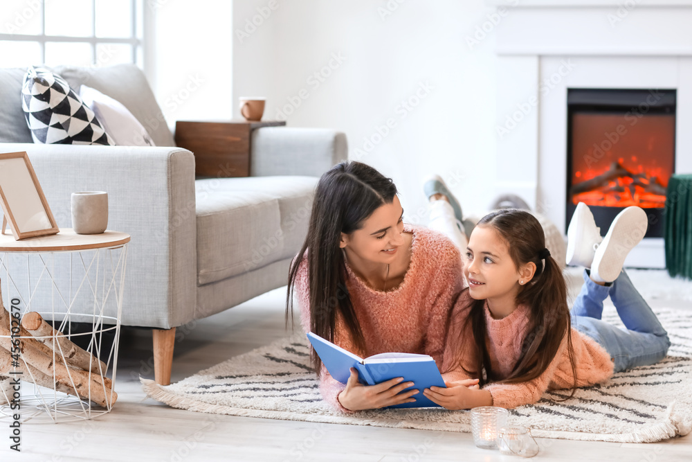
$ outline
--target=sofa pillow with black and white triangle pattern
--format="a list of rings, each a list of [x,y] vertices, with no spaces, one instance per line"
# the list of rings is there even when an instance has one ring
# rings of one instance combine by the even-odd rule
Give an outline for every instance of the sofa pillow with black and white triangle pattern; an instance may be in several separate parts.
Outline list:
[[[48,69],[28,68],[21,87],[21,109],[34,143],[116,144],[64,78]]]

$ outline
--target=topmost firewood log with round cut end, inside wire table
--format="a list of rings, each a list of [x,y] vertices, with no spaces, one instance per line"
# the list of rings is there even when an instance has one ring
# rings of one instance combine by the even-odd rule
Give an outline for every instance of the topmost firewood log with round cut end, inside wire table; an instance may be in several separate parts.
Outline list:
[[[57,354],[62,354],[65,361],[73,366],[95,373],[105,373],[106,364],[88,351],[82,350],[65,337],[62,332],[53,329],[37,312],[28,312],[21,317],[21,326],[37,338],[42,344]],[[43,338],[40,338],[43,337]]]

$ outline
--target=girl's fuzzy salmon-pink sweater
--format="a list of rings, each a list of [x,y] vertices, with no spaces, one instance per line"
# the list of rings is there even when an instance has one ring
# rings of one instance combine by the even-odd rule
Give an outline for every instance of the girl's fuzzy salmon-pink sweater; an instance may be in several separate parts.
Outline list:
[[[473,333],[470,326],[464,329],[470,311],[470,301],[471,296],[465,290],[459,296],[452,314],[453,321],[444,354],[443,371],[453,369],[453,372],[446,374],[446,380],[477,378],[470,377],[462,368],[466,368],[467,371],[474,369],[471,359],[475,350]],[[566,335],[552,362],[543,374],[534,380],[515,384],[492,383],[509,376],[520,358],[522,342],[527,334],[528,309],[526,305],[519,305],[509,316],[493,319],[488,304],[485,305],[486,346],[495,377],[489,377],[491,383],[483,388],[490,391],[493,396],[493,406],[511,409],[533,404],[540,400],[546,390],[570,389],[574,383],[572,366],[567,355]],[[610,356],[594,339],[572,328],[572,347],[577,387],[605,382],[612,376],[613,363]],[[462,355],[459,355],[459,352]]]

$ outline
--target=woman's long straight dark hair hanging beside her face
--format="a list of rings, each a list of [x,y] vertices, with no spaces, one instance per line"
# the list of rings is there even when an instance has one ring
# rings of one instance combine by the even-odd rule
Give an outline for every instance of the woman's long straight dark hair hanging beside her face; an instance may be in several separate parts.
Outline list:
[[[334,341],[336,313],[340,313],[356,348],[365,350],[363,330],[346,287],[346,267],[339,247],[341,233],[361,229],[363,222],[397,195],[392,179],[365,163],[345,161],[320,178],[312,204],[307,238],[291,264],[286,292],[286,323],[293,314],[293,290],[300,262],[307,252],[310,292],[310,330]],[[316,371],[321,361],[312,351]]]

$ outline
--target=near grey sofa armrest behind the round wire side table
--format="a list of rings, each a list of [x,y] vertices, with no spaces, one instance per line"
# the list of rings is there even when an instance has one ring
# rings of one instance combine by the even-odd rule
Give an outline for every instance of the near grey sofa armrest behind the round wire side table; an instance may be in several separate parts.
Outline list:
[[[181,148],[0,143],[26,151],[57,225],[72,227],[71,193],[108,193],[108,229],[129,233],[126,326],[171,328],[194,319],[197,217],[194,157]]]

